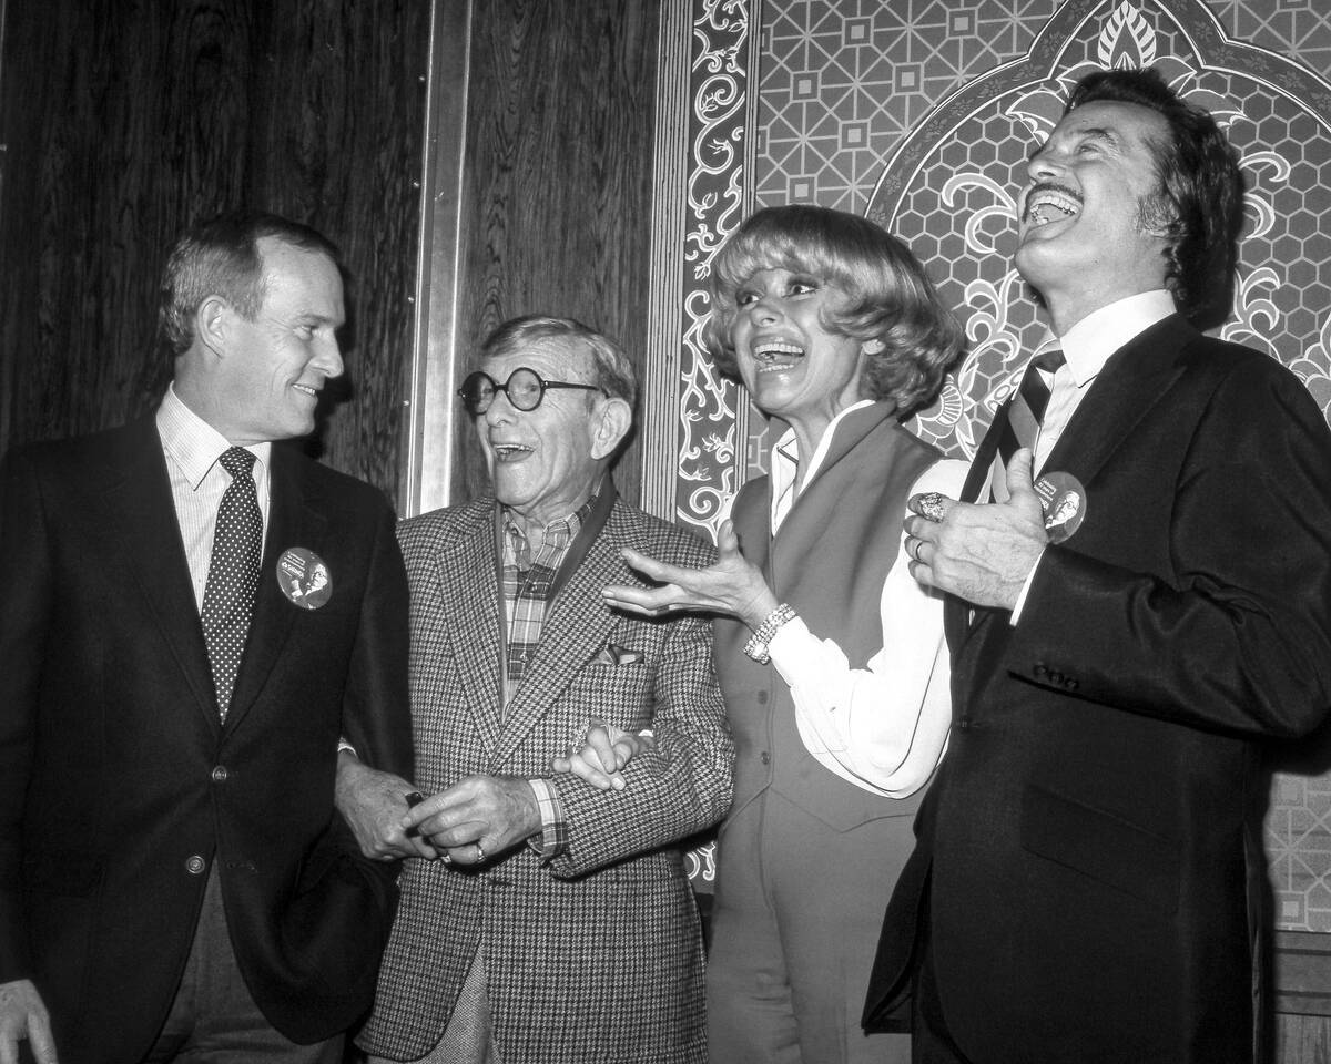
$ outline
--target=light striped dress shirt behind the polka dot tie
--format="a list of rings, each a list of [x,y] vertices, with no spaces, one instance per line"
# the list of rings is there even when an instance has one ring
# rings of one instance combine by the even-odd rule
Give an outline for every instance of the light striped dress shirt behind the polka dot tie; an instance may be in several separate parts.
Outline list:
[[[230,473],[217,464],[217,459],[230,448],[228,439],[192,411],[176,395],[172,384],[157,407],[157,435],[166,455],[170,493],[176,503],[176,520],[185,544],[189,576],[194,584],[194,602],[204,609],[204,588],[208,585],[208,567],[213,559],[213,533],[217,529],[217,508],[232,483]],[[254,489],[258,509],[268,533],[269,460],[272,443],[246,447],[254,458]]]

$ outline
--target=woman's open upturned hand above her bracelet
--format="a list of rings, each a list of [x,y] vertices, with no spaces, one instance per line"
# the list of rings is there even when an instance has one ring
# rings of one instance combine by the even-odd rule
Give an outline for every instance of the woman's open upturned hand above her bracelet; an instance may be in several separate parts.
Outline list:
[[[740,553],[735,525],[723,521],[716,536],[717,557],[705,569],[687,569],[623,549],[624,561],[663,587],[635,588],[611,584],[600,593],[606,605],[659,617],[664,613],[693,610],[739,617],[757,628],[779,605],[763,573]]]

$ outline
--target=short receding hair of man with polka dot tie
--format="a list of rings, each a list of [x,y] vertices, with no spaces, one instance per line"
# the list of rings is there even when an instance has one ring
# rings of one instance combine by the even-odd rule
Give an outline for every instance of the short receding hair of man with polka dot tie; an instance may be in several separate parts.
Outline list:
[[[158,325],[173,355],[194,342],[194,313],[210,295],[221,295],[248,321],[264,306],[265,237],[319,251],[341,269],[337,246],[307,225],[277,214],[232,211],[190,227],[172,247],[162,270]]]

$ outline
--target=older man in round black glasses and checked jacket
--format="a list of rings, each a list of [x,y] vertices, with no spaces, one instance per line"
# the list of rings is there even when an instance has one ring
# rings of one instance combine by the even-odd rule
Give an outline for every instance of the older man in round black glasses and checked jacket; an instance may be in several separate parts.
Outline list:
[[[586,326],[500,326],[461,391],[494,495],[402,524],[417,779],[431,793],[403,826],[443,857],[403,870],[358,1039],[371,1060],[705,1059],[679,843],[725,813],[732,745],[709,624],[602,600],[636,583],[626,548],[711,557],[615,495],[634,391],[632,364]],[[620,786],[551,771],[602,724],[646,742]]]

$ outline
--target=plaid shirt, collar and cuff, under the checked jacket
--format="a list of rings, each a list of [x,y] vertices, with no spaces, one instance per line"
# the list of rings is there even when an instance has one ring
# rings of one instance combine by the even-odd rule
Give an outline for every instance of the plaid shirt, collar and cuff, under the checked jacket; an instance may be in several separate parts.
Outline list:
[[[503,597],[504,612],[508,616],[506,704],[522,684],[527,664],[540,645],[540,628],[546,620],[550,588],[595,501],[596,496],[592,496],[576,513],[546,525],[535,555],[531,552],[531,543],[512,519],[512,511],[506,508],[503,512]],[[540,806],[540,838],[532,837],[528,845],[543,861],[550,861],[568,846],[568,822],[564,819],[554,787],[544,779],[528,782]]]

